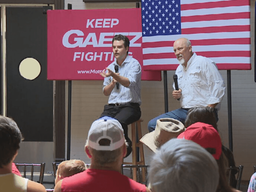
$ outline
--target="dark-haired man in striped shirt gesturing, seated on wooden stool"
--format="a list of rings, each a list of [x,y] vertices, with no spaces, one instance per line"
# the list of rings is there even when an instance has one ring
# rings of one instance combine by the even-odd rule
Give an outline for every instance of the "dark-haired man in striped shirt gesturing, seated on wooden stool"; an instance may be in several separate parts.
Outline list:
[[[115,60],[100,73],[104,77],[103,93],[109,96],[108,104],[104,106],[100,117],[110,116],[121,123],[128,142],[128,156],[131,152],[131,140],[128,138],[127,125],[138,120],[141,115],[141,66],[135,58],[128,55],[129,39],[126,36],[115,35],[112,49]]]

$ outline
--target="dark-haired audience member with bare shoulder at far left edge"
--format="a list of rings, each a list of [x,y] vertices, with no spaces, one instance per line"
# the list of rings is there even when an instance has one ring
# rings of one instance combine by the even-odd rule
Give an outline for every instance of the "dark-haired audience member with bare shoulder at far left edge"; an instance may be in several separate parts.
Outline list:
[[[16,122],[0,115],[0,191],[45,192],[42,184],[12,173],[12,162],[21,140],[22,135]]]

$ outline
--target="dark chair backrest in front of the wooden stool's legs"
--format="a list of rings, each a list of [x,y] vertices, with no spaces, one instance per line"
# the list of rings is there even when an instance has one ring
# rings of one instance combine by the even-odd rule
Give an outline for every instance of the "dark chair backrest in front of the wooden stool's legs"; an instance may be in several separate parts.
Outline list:
[[[132,171],[135,170],[135,171],[137,171],[137,180],[136,181],[147,186],[147,168],[148,167],[149,167],[149,165],[122,164],[121,173],[132,178]],[[127,171],[125,171],[125,169],[128,170],[129,172],[127,173]],[[144,171],[144,172],[142,172],[142,171]]]

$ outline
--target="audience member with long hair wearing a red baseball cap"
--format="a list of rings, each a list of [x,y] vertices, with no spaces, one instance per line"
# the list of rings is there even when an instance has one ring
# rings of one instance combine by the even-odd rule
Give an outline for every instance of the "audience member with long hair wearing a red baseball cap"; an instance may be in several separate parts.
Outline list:
[[[222,144],[217,130],[210,124],[196,122],[189,125],[177,138],[192,140],[200,144],[216,159],[219,171],[219,183],[216,192],[237,192],[232,188],[226,177],[227,160],[221,150]]]

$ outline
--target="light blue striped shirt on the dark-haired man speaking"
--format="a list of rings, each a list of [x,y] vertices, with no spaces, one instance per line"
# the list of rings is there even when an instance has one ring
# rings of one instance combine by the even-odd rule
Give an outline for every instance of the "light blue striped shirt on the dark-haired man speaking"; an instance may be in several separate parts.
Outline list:
[[[122,62],[121,66],[119,66],[116,61],[113,61],[111,64],[107,66],[107,68],[114,72],[114,65],[118,66],[119,75],[128,78],[130,84],[128,87],[125,87],[119,83],[119,89],[116,89],[116,86],[114,86],[113,90],[109,95],[108,104],[126,104],[128,102],[136,102],[138,104],[141,104],[141,66],[139,62],[135,58],[132,58],[132,56],[127,55],[124,61]],[[103,90],[104,87],[112,81],[112,79],[112,76],[104,78]]]

